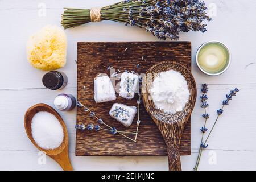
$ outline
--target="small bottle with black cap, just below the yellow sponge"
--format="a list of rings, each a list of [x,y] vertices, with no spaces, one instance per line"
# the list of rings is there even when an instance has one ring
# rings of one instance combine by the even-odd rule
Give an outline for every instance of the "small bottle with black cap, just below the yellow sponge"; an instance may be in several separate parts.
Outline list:
[[[51,90],[60,90],[68,84],[68,77],[63,72],[51,71],[43,76],[43,85]]]

